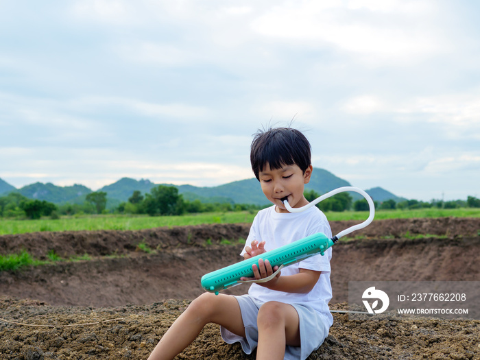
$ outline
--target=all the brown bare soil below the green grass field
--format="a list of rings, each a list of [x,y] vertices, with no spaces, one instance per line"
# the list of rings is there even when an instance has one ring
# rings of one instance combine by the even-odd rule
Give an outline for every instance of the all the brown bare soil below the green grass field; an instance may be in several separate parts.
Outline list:
[[[336,233],[352,224],[331,226]],[[0,237],[0,254],[24,249],[37,259],[47,259],[51,250],[65,259],[91,256],[0,272],[0,358],[146,359],[202,293],[200,277],[240,260],[239,239],[249,228],[216,224]],[[347,309],[352,280],[480,280],[479,232],[480,219],[374,221],[333,249],[331,309]],[[154,253],[141,250],[140,243]],[[241,285],[226,292],[247,290]],[[309,359],[480,359],[480,321],[354,321],[342,313],[334,319],[330,335]],[[224,344],[211,325],[178,359],[254,355]]]

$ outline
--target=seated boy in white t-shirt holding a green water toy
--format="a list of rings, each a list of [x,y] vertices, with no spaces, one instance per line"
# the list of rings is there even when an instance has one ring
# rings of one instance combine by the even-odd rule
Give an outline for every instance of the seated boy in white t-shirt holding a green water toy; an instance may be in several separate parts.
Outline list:
[[[315,206],[289,213],[283,204],[307,205],[304,184],[312,173],[310,144],[298,130],[274,128],[259,131],[250,149],[250,162],[261,189],[274,205],[256,215],[241,255],[262,254],[317,232],[332,237],[325,215]],[[256,359],[307,359],[322,345],[333,324],[331,300],[331,248],[282,269],[266,283],[254,283],[248,295],[203,293],[178,317],[152,352],[149,360],[173,359],[213,322],[228,344],[241,343]],[[276,271],[268,261],[252,265],[256,280]],[[242,279],[249,280],[249,279]]]

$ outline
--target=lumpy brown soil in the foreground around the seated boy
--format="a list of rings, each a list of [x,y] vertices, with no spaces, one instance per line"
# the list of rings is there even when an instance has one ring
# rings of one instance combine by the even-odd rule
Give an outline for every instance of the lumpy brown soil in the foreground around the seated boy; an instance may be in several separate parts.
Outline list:
[[[0,298],[2,359],[147,359],[154,346],[188,306],[186,300],[116,308],[51,307],[43,302]],[[337,304],[333,308],[345,308]],[[480,322],[418,318],[352,321],[334,313],[317,359],[479,359]],[[38,327],[37,327],[38,326]],[[208,325],[177,359],[255,359],[239,344],[221,340]]]

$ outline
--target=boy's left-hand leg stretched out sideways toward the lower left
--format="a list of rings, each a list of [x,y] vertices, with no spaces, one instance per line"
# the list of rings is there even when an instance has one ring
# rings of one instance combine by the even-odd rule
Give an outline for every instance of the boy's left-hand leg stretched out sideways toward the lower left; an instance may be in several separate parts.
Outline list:
[[[149,360],[173,359],[200,334],[210,322],[227,328],[232,333],[245,336],[245,328],[237,299],[224,294],[203,293],[193,300],[187,310],[163,335]]]

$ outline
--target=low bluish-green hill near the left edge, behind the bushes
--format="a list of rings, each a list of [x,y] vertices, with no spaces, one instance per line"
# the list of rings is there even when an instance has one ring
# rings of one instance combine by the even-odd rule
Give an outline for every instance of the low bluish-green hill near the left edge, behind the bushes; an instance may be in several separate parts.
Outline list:
[[[19,189],[18,192],[29,199],[46,200],[47,202],[53,202],[53,204],[61,204],[64,202],[82,203],[86,194],[92,191],[80,184],[75,184],[71,187],[58,187],[51,182],[47,182],[47,184],[36,182]]]

